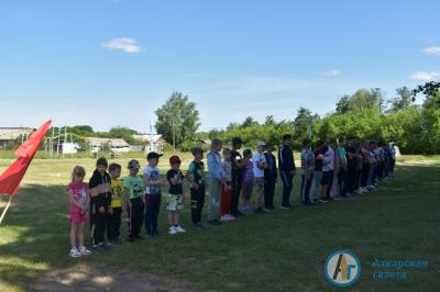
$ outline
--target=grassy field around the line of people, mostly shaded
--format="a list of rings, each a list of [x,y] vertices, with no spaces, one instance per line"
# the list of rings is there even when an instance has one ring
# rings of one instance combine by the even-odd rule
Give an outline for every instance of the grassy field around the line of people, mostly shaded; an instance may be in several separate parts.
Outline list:
[[[11,161],[0,159],[0,171]],[[125,165],[128,159],[114,161]],[[296,178],[294,210],[201,232],[189,228],[187,200],[183,225],[188,232],[175,237],[165,235],[163,204],[162,237],[70,259],[65,186],[75,165],[90,176],[94,162],[33,161],[0,227],[0,291],[337,291],[322,267],[339,249],[354,251],[362,262],[359,282],[345,290],[440,290],[440,157],[406,156],[396,180],[378,191],[312,207],[298,204]],[[184,169],[188,162],[184,155]],[[165,159],[161,167],[167,169]],[[374,271],[386,271],[372,267],[375,259],[424,259],[430,266],[406,270],[406,280],[375,280]]]

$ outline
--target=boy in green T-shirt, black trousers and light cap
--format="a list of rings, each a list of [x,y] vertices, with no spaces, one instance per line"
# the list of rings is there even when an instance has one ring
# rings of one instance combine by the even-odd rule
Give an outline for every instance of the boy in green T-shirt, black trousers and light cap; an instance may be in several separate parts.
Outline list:
[[[130,175],[124,178],[123,187],[125,194],[129,195],[128,213],[129,213],[129,242],[132,243],[140,237],[142,222],[144,220],[145,209],[145,183],[144,180],[138,176],[141,165],[138,160],[132,159],[129,161]]]

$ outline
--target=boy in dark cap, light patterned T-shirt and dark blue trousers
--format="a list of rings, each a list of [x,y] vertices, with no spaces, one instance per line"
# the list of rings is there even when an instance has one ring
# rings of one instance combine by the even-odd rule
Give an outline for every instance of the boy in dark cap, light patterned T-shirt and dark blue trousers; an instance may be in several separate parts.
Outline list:
[[[162,155],[157,153],[148,153],[146,160],[148,165],[144,168],[145,182],[145,229],[146,236],[157,237],[157,216],[161,210],[161,171],[157,168],[158,158]]]

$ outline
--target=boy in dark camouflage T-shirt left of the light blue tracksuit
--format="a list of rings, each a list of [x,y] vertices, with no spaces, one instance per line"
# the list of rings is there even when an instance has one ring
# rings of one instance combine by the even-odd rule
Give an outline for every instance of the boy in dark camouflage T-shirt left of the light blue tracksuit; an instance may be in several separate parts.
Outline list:
[[[193,149],[194,160],[189,164],[187,178],[191,190],[191,221],[196,229],[202,229],[201,210],[205,205],[205,165],[204,149],[196,147]]]

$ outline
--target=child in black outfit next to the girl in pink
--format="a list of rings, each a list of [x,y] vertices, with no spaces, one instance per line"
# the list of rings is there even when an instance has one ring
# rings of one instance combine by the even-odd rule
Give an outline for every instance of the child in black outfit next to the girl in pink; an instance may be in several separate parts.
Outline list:
[[[106,158],[97,160],[97,168],[89,181],[90,189],[90,217],[91,239],[94,249],[102,251],[107,249],[105,234],[107,217],[111,201],[111,178],[107,173],[108,162]]]

